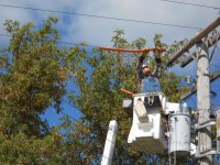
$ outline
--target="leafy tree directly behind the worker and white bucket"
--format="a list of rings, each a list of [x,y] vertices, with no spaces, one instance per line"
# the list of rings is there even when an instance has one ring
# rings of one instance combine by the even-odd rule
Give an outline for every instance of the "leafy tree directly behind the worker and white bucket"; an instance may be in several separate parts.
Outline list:
[[[112,37],[113,46],[128,48],[146,46],[144,38],[138,38],[129,43],[123,37],[123,31],[117,30],[114,33]],[[162,35],[155,35],[155,46],[164,45],[169,52],[179,44],[168,46],[161,42],[161,37]],[[163,55],[163,62],[167,61],[167,56],[168,54]],[[147,59],[154,67],[154,57],[148,55]],[[76,62],[76,59],[73,61]],[[84,139],[84,141],[78,141],[78,145],[87,146],[80,148],[80,152],[85,154],[85,163],[94,160],[100,162],[108,124],[112,119],[117,119],[120,128],[113,164],[144,164],[146,162],[147,164],[160,164],[165,161],[164,154],[155,156],[136,153],[127,144],[131,119],[128,118],[121,105],[122,99],[129,96],[121,94],[119,89],[123,87],[133,92],[139,92],[136,78],[138,55],[94,50],[92,53],[85,53],[84,56],[80,56],[77,66],[73,61],[69,59],[67,66],[73,68],[70,72],[74,73],[75,85],[79,88],[79,92],[70,96],[70,99],[75,107],[85,114],[81,118],[80,130],[77,130],[77,132],[73,130],[77,134],[73,139],[77,139],[77,136]],[[166,73],[166,69],[167,67],[164,66],[164,76],[161,79],[162,89],[168,95],[170,101],[179,101],[180,95],[187,88],[180,87],[180,78],[174,73]]]

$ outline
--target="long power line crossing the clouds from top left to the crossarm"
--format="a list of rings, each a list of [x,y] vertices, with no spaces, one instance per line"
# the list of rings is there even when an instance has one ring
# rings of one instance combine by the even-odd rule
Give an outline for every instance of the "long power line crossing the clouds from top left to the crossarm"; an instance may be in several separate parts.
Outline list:
[[[2,3],[0,3],[0,7],[14,8],[14,9],[24,9],[24,10],[34,10],[34,11],[43,11],[43,12],[53,12],[53,13],[69,14],[69,15],[79,15],[79,16],[96,18],[96,19],[116,20],[116,21],[124,21],[124,22],[156,24],[156,25],[190,29],[190,30],[201,30],[201,28],[198,28],[198,26],[188,26],[188,25],[170,24],[170,23],[163,23],[163,22],[152,22],[152,21],[143,21],[143,20],[122,19],[122,18],[113,18],[113,16],[78,13],[78,12],[67,12],[67,11],[58,11],[58,10],[50,10],[50,9],[41,9],[41,8],[31,8],[31,7],[23,7],[23,6],[11,6],[11,4],[2,4]]]

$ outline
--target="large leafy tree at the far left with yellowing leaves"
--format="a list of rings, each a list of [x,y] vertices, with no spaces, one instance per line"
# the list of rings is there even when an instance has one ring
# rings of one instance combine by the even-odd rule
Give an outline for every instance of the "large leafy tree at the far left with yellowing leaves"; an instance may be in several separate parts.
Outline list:
[[[6,21],[12,35],[1,48],[0,75],[0,162],[3,164],[53,164],[61,156],[57,129],[50,129],[41,114],[48,107],[61,110],[66,94],[63,58],[57,46],[57,19],[50,18],[40,30],[33,23]],[[56,150],[57,148],[57,150]],[[61,163],[62,164],[62,163]]]

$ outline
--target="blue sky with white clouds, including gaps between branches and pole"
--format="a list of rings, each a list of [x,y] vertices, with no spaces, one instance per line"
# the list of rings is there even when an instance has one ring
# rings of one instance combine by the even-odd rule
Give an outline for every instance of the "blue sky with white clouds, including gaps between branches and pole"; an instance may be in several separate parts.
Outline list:
[[[219,0],[182,1],[209,7],[220,7]],[[37,10],[24,10],[19,8],[7,8],[6,6],[37,8],[69,13],[117,18],[121,20],[85,16],[79,14],[62,14]],[[57,16],[59,22],[56,26],[62,34],[62,41],[73,43],[73,45],[80,42],[86,42],[94,46],[111,46],[113,31],[117,29],[122,29],[125,32],[125,37],[130,42],[138,37],[144,37],[147,40],[148,47],[152,47],[153,37],[156,33],[163,34],[163,41],[167,44],[172,44],[174,41],[184,38],[190,40],[199,31],[198,29],[194,28],[206,28],[213,20],[220,16],[220,10],[178,4],[163,0],[0,0],[0,15],[1,34],[6,34],[2,25],[4,20],[18,20],[21,23],[32,21],[36,25],[40,25],[42,24],[42,21],[46,20],[48,16]],[[191,29],[122,21],[122,19],[190,26]],[[7,45],[9,37],[0,36],[1,45]],[[193,51],[194,50],[195,48],[193,48]],[[219,54],[220,46],[216,50],[213,59],[211,62],[211,73],[220,69]],[[184,69],[179,66],[175,66],[172,68],[172,70],[175,70],[179,75],[191,75],[195,78],[196,63],[193,62]],[[211,85],[211,88],[220,95],[220,80],[216,80]],[[217,106],[220,106],[219,95],[212,99]],[[196,107],[196,97],[191,97],[187,100],[187,102],[189,106]],[[74,109],[72,106],[64,103],[63,107],[65,109],[65,113],[74,118],[80,117],[80,112]],[[62,116],[63,114],[56,114],[55,111],[50,109],[45,112],[43,118],[48,120],[50,125],[57,125],[61,123],[59,118]]]

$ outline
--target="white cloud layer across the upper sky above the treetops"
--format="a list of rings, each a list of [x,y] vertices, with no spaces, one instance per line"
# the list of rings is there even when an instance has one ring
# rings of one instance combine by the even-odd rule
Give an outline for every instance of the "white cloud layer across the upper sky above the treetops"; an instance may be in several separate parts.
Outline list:
[[[218,10],[169,3],[160,0],[4,0],[2,3],[199,28],[208,25],[218,16]],[[220,6],[218,1],[207,2],[206,0],[195,0],[194,3],[213,7]],[[109,45],[110,37],[116,29],[124,29],[127,36],[131,40],[139,36],[152,40],[155,33],[163,33],[166,42],[169,43],[174,40],[191,37],[196,33],[196,30],[180,28],[0,8],[2,11],[1,20],[15,19],[21,22],[40,22],[48,15],[56,15],[61,20],[58,28],[65,33],[63,40],[73,42],[85,41],[91,45]],[[68,20],[68,23],[66,20]]]

